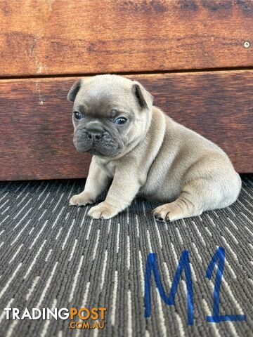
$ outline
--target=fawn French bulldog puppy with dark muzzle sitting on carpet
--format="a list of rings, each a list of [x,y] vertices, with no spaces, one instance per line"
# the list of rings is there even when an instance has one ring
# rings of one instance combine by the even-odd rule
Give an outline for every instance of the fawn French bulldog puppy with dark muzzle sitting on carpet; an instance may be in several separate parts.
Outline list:
[[[153,106],[137,81],[117,75],[79,79],[74,102],[74,146],[93,154],[84,191],[70,205],[94,204],[92,218],[109,219],[138,196],[159,202],[157,220],[178,220],[232,204],[241,180],[217,145]]]

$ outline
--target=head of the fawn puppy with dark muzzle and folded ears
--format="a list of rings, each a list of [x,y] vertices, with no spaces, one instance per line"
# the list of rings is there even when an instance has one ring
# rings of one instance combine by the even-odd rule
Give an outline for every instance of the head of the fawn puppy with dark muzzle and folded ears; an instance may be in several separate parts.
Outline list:
[[[153,96],[124,77],[79,79],[67,99],[74,102],[74,146],[79,152],[120,157],[141,141],[150,123]]]

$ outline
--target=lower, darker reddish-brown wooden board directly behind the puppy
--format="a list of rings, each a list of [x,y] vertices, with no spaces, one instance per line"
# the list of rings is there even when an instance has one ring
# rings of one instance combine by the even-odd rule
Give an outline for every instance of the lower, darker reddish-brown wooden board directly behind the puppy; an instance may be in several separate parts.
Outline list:
[[[253,171],[253,71],[129,76],[155,105],[223,147],[239,172]],[[0,81],[0,180],[81,178],[89,154],[72,145],[76,78]]]

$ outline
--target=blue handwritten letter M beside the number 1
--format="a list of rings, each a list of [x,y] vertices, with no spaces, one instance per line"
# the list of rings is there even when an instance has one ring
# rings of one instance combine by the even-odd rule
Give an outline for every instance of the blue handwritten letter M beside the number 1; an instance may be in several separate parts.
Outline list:
[[[193,281],[190,272],[189,252],[183,251],[181,254],[179,265],[176,268],[169,296],[166,296],[164,287],[162,286],[161,277],[157,267],[157,258],[155,253],[148,254],[148,260],[145,266],[145,313],[144,317],[150,317],[151,315],[151,276],[152,272],[155,279],[155,284],[159,291],[159,294],[167,305],[175,304],[176,290],[179,286],[179,281],[183,270],[186,273],[186,288],[187,288],[187,305],[188,305],[188,325],[193,325]]]

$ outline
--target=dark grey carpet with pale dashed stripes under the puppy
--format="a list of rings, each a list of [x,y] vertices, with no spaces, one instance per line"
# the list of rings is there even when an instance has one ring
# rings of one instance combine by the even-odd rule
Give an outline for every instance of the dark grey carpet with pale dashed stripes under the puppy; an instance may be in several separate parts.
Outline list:
[[[91,220],[89,207],[68,206],[84,180],[0,183],[1,336],[253,336],[253,178],[245,176],[233,206],[174,223],[156,223],[155,205],[134,203],[112,220]],[[221,315],[245,322],[208,323],[214,277],[205,277],[218,246],[226,249]],[[157,254],[169,292],[181,252],[193,272],[195,322],[187,326],[185,276],[174,306],[152,286],[151,317],[143,316],[148,253]],[[104,330],[68,329],[69,321],[6,320],[4,308],[106,307]]]

